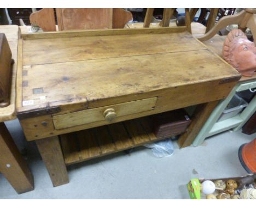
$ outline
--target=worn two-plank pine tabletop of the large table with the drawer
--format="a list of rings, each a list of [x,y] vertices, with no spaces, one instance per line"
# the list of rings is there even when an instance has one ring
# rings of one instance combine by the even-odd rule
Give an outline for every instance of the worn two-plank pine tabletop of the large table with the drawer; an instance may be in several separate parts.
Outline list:
[[[239,76],[184,29],[156,29],[24,35],[18,112],[74,103],[95,107],[115,97],[140,99],[150,91]]]

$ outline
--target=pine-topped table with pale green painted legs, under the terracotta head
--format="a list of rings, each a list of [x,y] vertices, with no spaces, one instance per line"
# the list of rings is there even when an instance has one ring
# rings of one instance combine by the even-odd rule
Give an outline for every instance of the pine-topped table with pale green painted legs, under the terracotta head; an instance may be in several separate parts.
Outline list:
[[[170,22],[170,26],[173,26],[173,23]],[[127,23],[126,28],[142,28],[143,23]],[[151,23],[150,27],[158,27],[158,23]],[[206,27],[201,23],[192,22],[191,23],[192,34],[194,37],[202,36],[205,34]],[[223,42],[225,41],[226,36],[220,36],[218,34],[214,35],[213,38],[207,41],[203,41],[213,53],[217,54],[219,57],[222,57],[222,48]],[[218,105],[214,108],[210,117],[206,120],[205,124],[202,126],[202,129],[197,134],[193,141],[194,146],[199,146],[203,143],[203,141],[214,134],[230,130],[237,131],[240,130],[243,125],[245,125],[246,121],[253,115],[256,111],[256,96],[253,97],[252,101],[249,102],[249,105],[243,110],[242,113],[236,115],[233,118],[226,119],[220,122],[217,122],[218,118],[224,111],[225,107],[228,105],[232,97],[238,91],[248,90],[256,87],[256,75],[252,77],[242,76],[240,80],[237,82],[235,87],[230,91],[229,95],[219,101]],[[254,89],[255,91],[255,89]]]

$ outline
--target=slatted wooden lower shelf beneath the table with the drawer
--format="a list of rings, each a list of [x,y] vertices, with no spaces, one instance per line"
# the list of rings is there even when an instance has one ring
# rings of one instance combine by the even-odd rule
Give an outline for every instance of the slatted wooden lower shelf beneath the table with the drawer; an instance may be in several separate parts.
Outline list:
[[[148,117],[67,133],[60,137],[67,166],[161,139],[152,132]]]

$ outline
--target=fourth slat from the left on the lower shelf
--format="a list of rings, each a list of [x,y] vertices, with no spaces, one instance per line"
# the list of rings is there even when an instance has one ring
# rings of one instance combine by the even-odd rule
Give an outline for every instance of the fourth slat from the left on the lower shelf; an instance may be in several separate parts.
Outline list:
[[[133,140],[127,134],[123,123],[110,124],[107,126],[117,150],[125,150],[134,145]]]

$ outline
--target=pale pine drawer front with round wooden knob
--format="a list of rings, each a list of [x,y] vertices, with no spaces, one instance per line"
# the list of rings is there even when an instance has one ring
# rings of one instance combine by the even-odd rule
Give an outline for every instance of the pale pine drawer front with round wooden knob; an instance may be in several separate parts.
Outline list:
[[[86,109],[53,116],[55,130],[94,123],[106,120],[106,124],[112,123],[117,117],[152,111],[155,107],[157,97],[119,103],[117,105]]]

